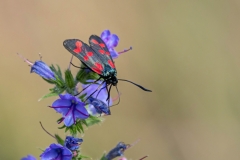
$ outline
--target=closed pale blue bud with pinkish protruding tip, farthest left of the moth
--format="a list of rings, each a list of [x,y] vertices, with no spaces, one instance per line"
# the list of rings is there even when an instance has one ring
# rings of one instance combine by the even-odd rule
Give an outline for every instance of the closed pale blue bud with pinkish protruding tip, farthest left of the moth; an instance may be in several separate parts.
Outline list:
[[[31,73],[35,72],[39,76],[45,79],[55,80],[55,75],[53,71],[49,68],[49,66],[43,61],[35,61],[34,63],[30,62],[28,59],[24,58],[22,55],[18,54],[25,62],[27,62],[31,66]]]

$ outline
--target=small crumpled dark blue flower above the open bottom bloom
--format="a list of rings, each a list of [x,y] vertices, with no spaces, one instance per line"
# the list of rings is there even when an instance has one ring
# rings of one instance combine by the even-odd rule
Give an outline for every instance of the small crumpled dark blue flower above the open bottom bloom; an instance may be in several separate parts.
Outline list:
[[[71,151],[75,151],[79,149],[79,145],[83,142],[82,138],[75,138],[72,136],[67,136],[64,142],[64,146],[70,149]]]

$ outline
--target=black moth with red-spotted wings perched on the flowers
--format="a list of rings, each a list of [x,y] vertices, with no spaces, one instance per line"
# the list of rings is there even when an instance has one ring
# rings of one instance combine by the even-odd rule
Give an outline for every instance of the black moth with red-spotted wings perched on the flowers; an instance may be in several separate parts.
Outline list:
[[[106,82],[106,89],[108,91],[107,100],[109,100],[110,90],[112,86],[116,86],[116,89],[118,92],[118,88],[117,88],[118,80],[130,82],[138,86],[144,91],[152,92],[151,90],[146,89],[129,80],[117,79],[117,70],[113,62],[113,59],[110,55],[107,45],[100,37],[96,35],[91,35],[89,37],[89,44],[90,46],[78,39],[67,39],[63,42],[63,46],[70,53],[76,56],[87,68],[89,68],[90,70],[92,70],[93,72],[97,73],[100,76],[100,78],[97,79],[95,82],[99,81],[100,79],[103,79],[103,82],[99,85],[98,89],[96,89],[90,96],[88,96],[86,100],[89,97],[91,97],[95,92],[97,92],[99,89],[100,90],[103,89],[101,88],[101,86],[103,85],[104,82]],[[108,89],[108,86],[109,86],[109,89]]]

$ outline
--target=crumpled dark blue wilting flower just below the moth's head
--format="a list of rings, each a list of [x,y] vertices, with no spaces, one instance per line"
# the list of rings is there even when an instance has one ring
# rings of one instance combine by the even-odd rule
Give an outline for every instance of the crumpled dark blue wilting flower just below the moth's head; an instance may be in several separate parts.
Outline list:
[[[93,98],[93,97],[89,97],[87,99],[87,102],[90,104],[89,106],[89,110],[91,111],[91,113],[93,115],[95,114],[102,114],[105,113],[106,115],[110,115],[110,109],[109,106],[104,103],[103,101],[97,99],[97,98]]]

